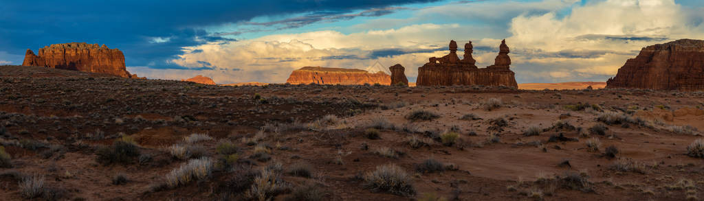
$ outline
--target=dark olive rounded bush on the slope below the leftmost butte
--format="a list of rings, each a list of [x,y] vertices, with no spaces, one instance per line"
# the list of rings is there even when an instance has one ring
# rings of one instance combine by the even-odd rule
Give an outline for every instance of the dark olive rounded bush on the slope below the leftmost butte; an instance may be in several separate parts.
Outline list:
[[[96,155],[98,155],[98,162],[102,164],[127,164],[132,162],[134,157],[139,156],[139,145],[131,137],[122,136],[113,142],[112,146],[99,148]]]

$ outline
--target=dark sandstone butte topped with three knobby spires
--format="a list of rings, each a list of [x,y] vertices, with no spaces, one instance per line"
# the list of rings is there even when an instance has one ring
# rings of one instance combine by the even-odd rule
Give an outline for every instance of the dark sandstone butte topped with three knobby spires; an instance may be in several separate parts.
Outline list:
[[[472,41],[465,44],[462,60],[457,56],[457,42],[450,41],[450,53],[441,58],[429,58],[429,62],[418,67],[417,86],[487,85],[518,87],[515,74],[509,70],[511,59],[506,41],[501,41],[494,65],[478,68],[472,58]]]

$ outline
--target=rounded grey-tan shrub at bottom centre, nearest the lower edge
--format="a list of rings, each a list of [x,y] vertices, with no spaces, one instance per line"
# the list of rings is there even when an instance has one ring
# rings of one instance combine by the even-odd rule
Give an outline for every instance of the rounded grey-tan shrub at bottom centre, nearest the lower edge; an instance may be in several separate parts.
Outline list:
[[[395,195],[415,195],[410,176],[396,164],[377,166],[375,171],[364,176],[364,186],[375,192],[389,192]]]

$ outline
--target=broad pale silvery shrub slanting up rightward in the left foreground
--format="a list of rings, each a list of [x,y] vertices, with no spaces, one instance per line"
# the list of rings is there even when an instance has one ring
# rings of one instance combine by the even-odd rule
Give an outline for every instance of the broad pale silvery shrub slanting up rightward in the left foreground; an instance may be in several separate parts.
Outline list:
[[[172,169],[166,174],[165,181],[169,188],[186,185],[191,181],[203,180],[210,176],[213,170],[213,160],[208,157],[191,159],[186,164]]]

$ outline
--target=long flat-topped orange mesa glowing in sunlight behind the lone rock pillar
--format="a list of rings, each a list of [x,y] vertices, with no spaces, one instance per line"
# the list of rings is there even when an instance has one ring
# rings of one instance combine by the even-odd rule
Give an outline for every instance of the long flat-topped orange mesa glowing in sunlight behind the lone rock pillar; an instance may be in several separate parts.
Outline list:
[[[290,84],[384,84],[391,77],[384,72],[369,73],[366,70],[336,67],[302,67],[291,72],[286,82]]]

